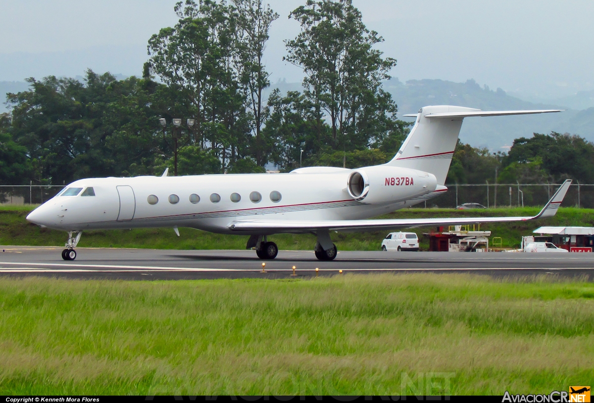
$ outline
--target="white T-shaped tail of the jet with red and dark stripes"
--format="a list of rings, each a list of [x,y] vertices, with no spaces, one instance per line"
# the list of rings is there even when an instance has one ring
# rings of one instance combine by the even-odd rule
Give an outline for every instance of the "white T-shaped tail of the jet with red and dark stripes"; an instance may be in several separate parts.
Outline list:
[[[561,112],[551,110],[495,110],[483,111],[463,106],[436,105],[422,107],[415,125],[402,143],[396,156],[386,165],[411,168],[435,175],[439,185],[445,184],[451,158],[454,156],[462,120],[470,116],[530,115],[532,113]],[[445,190],[445,188],[443,188]]]

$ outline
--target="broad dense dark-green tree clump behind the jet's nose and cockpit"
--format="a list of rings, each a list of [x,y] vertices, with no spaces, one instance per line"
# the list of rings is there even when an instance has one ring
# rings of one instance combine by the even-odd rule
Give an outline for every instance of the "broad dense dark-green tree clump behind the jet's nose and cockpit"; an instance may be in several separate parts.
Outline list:
[[[158,117],[176,106],[163,84],[87,71],[72,78],[33,78],[29,91],[8,94],[7,131],[26,150],[30,177],[59,184],[89,176],[153,174],[160,142]]]

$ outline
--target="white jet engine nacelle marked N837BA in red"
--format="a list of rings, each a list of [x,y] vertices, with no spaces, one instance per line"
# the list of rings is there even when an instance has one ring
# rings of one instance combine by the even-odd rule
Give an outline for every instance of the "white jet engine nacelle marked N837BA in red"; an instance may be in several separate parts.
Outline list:
[[[355,200],[369,204],[402,202],[435,191],[437,179],[432,173],[386,165],[353,170],[347,180],[347,192]]]

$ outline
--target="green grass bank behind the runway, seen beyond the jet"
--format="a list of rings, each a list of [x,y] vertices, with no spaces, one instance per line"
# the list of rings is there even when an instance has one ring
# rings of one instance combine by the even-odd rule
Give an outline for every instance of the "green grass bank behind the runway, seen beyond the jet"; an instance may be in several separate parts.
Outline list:
[[[34,207],[34,206],[33,206]],[[42,229],[30,224],[25,217],[32,210],[30,205],[0,207],[0,245],[61,246],[67,235],[63,231]],[[424,217],[476,217],[498,215],[534,215],[539,208],[498,208],[489,210],[453,210],[448,208],[407,208],[378,218]],[[557,215],[546,220],[486,224],[482,229],[491,230],[492,237],[501,237],[504,247],[519,247],[523,235],[532,234],[540,226],[594,226],[594,210],[585,208],[560,208]],[[416,228],[421,248],[428,249],[429,242],[422,233],[432,227]],[[86,231],[78,244],[81,247],[140,247],[156,249],[244,249],[247,236],[212,234],[194,229],[179,229],[181,237],[172,229],[134,229]],[[380,250],[381,240],[388,231],[369,233],[331,234],[339,250]],[[271,236],[280,249],[312,249],[312,235],[279,234]]]

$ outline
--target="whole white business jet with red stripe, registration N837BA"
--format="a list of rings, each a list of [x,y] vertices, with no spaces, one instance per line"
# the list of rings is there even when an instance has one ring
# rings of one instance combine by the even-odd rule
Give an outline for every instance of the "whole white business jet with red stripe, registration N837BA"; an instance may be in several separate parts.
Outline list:
[[[247,249],[274,259],[278,247],[267,238],[280,233],[317,236],[315,256],[336,257],[331,231],[393,230],[447,224],[526,221],[552,217],[569,188],[566,180],[534,217],[415,218],[368,220],[447,191],[462,120],[470,116],[527,115],[560,110],[484,112],[460,106],[427,106],[396,156],[358,169],[307,167],[290,173],[161,177],[105,177],[76,180],[37,207],[27,220],[68,231],[62,258],[76,258],[84,230],[192,227],[249,235]]]

